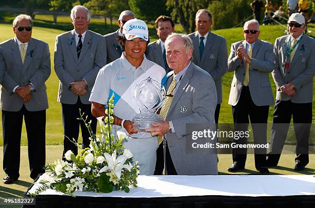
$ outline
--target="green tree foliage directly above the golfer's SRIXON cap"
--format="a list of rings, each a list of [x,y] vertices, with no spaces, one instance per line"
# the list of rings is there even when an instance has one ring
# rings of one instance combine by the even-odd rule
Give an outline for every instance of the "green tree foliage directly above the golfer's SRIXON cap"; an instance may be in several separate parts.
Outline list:
[[[170,15],[165,7],[166,0],[129,0],[128,4],[130,10],[141,20],[155,21],[160,15]]]

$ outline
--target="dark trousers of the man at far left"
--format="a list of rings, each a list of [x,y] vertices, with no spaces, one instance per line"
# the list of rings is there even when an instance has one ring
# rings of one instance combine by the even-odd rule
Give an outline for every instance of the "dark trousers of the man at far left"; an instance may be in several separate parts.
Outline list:
[[[25,106],[17,112],[2,111],[3,169],[7,175],[19,178],[20,145],[23,116],[27,133],[30,177],[36,179],[45,173],[46,110],[28,111]]]

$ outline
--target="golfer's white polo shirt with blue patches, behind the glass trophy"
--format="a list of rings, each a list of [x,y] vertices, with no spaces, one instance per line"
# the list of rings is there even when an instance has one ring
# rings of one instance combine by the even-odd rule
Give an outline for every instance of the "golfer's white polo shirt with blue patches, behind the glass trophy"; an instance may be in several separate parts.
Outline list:
[[[119,59],[99,70],[91,92],[90,102],[106,105],[114,93],[114,115],[121,119],[132,120],[140,112],[132,100],[132,89],[148,77],[166,85],[166,73],[163,67],[147,60],[144,55],[141,66],[136,69],[129,63],[125,57],[125,52],[123,52]],[[128,135],[125,128],[115,127],[116,131],[124,131]],[[139,132],[133,134],[132,137],[151,138],[151,134]]]

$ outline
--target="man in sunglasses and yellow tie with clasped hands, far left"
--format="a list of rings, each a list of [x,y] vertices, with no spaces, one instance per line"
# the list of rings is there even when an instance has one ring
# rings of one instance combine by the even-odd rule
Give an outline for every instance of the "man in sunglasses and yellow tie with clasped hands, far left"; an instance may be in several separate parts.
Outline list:
[[[15,37],[0,44],[4,183],[19,179],[23,117],[26,126],[30,177],[45,173],[45,129],[50,75],[48,44],[31,37],[33,21],[20,14],[13,21]],[[0,72],[1,73],[1,72]],[[1,77],[0,77],[1,80]]]

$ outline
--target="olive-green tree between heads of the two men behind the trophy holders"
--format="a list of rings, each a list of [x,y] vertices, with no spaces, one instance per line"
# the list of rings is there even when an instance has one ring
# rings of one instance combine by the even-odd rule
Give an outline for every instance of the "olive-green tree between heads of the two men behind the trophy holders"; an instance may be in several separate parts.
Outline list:
[[[195,31],[196,12],[208,8],[211,2],[212,0],[167,0],[166,6],[172,10],[172,18],[178,20],[188,34]]]

